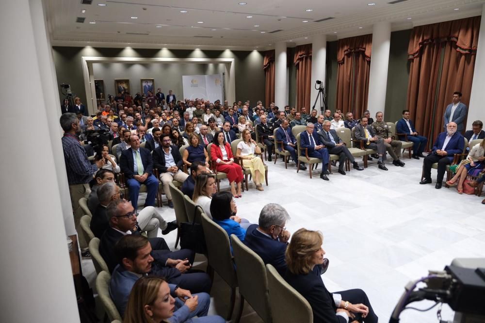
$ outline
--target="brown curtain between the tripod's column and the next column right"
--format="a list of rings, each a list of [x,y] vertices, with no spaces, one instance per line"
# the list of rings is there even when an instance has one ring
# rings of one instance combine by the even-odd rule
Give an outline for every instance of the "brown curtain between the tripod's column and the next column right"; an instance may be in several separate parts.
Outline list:
[[[372,34],[339,39],[337,49],[337,109],[360,118],[367,110]]]

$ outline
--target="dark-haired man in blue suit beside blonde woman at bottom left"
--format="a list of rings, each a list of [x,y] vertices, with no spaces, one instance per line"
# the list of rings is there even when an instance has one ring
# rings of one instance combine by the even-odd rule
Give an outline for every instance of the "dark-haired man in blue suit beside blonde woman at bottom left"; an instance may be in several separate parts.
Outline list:
[[[110,296],[121,317],[124,316],[128,304],[129,294],[135,282],[147,274],[152,274],[156,261],[150,255],[152,247],[143,236],[127,235],[114,246],[116,267],[110,279]],[[165,277],[166,279],[166,277]],[[167,282],[170,280],[167,279]],[[194,316],[207,318],[210,296],[205,292],[192,294],[190,290],[180,288],[170,283],[170,294],[176,299],[173,316],[169,322],[198,322]],[[194,318],[193,320],[191,320]],[[226,322],[217,317],[203,322]],[[200,320],[202,321],[202,320]]]

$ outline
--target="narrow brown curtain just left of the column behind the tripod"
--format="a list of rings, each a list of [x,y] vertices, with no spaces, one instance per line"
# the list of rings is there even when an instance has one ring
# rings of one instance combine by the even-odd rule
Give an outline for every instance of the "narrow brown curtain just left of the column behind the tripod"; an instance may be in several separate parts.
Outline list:
[[[311,44],[295,48],[293,63],[296,66],[296,111],[310,107],[311,92]]]

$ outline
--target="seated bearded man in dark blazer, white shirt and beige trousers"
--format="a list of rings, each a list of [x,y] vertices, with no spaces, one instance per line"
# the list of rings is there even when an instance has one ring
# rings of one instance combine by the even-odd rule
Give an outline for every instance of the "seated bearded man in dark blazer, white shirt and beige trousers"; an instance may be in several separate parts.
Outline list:
[[[207,126],[204,126],[207,128]],[[173,209],[172,194],[170,193],[170,184],[173,180],[184,182],[189,175],[182,172],[183,165],[182,156],[178,151],[178,147],[171,145],[172,140],[169,135],[162,135],[160,137],[161,145],[153,151],[153,167],[158,169],[160,174],[160,181],[163,185],[163,192],[168,199],[168,206]]]

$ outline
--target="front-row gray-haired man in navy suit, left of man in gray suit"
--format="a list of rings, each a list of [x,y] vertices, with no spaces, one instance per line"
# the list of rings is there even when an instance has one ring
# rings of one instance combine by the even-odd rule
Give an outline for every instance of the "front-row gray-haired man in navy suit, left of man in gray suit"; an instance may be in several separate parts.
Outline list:
[[[307,130],[300,134],[300,148],[302,149],[301,154],[305,156],[305,148],[308,149],[308,157],[320,158],[322,160],[322,173],[320,173],[320,178],[323,180],[329,180],[327,175],[330,174],[328,171],[328,162],[330,161],[330,156],[328,155],[328,150],[320,142],[318,135],[313,130],[315,126],[308,122]]]

